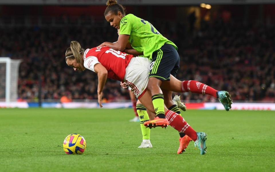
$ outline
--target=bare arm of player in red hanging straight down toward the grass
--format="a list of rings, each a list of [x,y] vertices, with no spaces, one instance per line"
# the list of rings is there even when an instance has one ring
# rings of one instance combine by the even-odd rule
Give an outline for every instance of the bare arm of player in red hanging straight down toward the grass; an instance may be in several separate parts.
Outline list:
[[[104,85],[107,80],[108,71],[100,63],[95,64],[94,70],[95,70],[95,73],[97,73],[97,77],[98,77],[97,100],[98,100],[100,107],[102,107],[102,104],[101,104],[102,91],[103,91]]]

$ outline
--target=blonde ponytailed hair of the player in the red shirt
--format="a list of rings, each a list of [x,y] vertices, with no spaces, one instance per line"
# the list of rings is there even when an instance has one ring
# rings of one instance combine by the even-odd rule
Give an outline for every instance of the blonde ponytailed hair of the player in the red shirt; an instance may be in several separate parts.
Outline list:
[[[80,68],[82,71],[84,71],[86,68],[84,67],[84,59],[82,55],[84,54],[84,49],[81,48],[79,42],[72,41],[70,44],[70,47],[67,48],[65,52],[66,56],[66,62],[67,60],[74,60],[76,59],[76,62],[80,65]]]

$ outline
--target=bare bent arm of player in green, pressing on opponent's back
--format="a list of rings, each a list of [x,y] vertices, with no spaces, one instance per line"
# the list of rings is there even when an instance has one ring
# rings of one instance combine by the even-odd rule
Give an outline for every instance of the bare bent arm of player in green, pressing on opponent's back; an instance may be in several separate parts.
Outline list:
[[[98,47],[102,47],[102,46],[108,46],[110,48],[113,48],[114,50],[117,51],[123,51],[125,50],[127,43],[128,43],[128,39],[129,39],[130,35],[119,35],[118,36],[118,40],[117,42],[111,43],[111,42],[103,42],[102,44],[100,44]]]

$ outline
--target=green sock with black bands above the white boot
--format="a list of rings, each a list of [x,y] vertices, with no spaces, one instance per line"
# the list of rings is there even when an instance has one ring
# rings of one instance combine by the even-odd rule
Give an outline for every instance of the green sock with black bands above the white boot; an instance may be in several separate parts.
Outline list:
[[[137,104],[137,114],[140,117],[140,128],[142,132],[142,139],[150,139],[150,128],[144,126],[144,122],[149,121],[149,115],[146,112],[146,107],[142,104]]]

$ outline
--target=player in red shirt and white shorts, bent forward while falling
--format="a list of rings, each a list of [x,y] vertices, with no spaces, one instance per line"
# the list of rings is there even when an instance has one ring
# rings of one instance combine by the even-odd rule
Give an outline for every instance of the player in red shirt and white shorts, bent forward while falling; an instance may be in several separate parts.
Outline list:
[[[89,69],[97,73],[99,80],[98,102],[100,107],[102,107],[102,90],[108,77],[123,82],[125,81],[127,85],[131,87],[132,92],[139,101],[145,105],[148,110],[155,113],[152,100],[150,99],[152,96],[148,91],[146,91],[151,62],[148,58],[134,57],[120,51],[115,51],[107,46],[87,49],[84,51],[76,41],[71,42],[71,46],[67,49],[65,55],[66,63],[70,67],[73,67],[74,70]],[[187,82],[186,88],[184,85],[185,82],[187,81],[179,81],[176,78],[171,77],[171,81],[161,85],[161,88],[175,92],[184,92],[185,90],[190,91],[190,83],[192,81]],[[200,85],[203,87],[202,92],[204,92],[204,88],[207,86],[203,83],[200,83]],[[213,91],[217,92],[215,89],[213,89]],[[209,93],[205,91],[205,94]],[[205,133],[195,132],[195,130],[193,130],[181,116],[168,110],[166,107],[165,114],[169,123],[159,124],[159,126],[167,127],[168,124],[170,124],[179,132],[184,132],[195,141],[195,146],[200,148],[201,154],[206,153]]]

